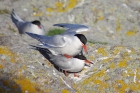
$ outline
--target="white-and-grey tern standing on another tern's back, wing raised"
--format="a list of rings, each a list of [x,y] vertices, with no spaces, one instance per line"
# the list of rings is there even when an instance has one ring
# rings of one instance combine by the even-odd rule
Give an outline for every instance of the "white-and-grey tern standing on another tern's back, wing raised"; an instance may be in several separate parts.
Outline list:
[[[38,47],[48,48],[54,55],[63,54],[69,58],[78,55],[82,49],[87,53],[87,39],[83,34],[78,34],[87,30],[89,29],[86,26],[78,26],[67,29],[64,33],[54,36],[26,33],[43,44]]]

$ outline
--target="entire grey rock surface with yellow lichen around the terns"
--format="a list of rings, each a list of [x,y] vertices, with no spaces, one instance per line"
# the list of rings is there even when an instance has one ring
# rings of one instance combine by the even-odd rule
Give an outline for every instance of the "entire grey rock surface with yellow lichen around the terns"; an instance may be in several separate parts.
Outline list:
[[[94,64],[66,77],[29,48],[38,42],[18,34],[12,9],[46,33],[54,23],[90,27],[86,57]],[[139,9],[139,0],[0,0],[0,93],[139,93]]]

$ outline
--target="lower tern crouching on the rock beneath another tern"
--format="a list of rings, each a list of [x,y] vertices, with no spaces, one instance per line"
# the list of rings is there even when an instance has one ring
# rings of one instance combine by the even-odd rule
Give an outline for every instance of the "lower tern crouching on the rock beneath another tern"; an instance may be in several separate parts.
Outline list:
[[[87,58],[83,55],[76,55],[72,58],[67,59],[61,54],[53,55],[47,48],[44,49],[34,45],[30,46],[32,46],[33,49],[38,50],[45,58],[51,61],[54,66],[62,69],[66,76],[68,75],[67,72],[72,72],[76,77],[76,73],[82,71],[84,66],[87,65],[86,63],[92,64],[92,62],[87,60]]]

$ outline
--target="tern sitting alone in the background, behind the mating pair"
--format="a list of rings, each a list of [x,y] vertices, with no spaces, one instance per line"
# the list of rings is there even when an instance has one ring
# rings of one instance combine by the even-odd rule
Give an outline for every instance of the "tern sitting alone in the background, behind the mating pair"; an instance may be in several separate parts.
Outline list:
[[[35,33],[39,35],[44,35],[44,27],[41,25],[40,21],[35,20],[32,22],[25,21],[21,19],[15,12],[14,9],[11,13],[11,19],[13,23],[16,25],[19,33],[22,35],[25,32]]]

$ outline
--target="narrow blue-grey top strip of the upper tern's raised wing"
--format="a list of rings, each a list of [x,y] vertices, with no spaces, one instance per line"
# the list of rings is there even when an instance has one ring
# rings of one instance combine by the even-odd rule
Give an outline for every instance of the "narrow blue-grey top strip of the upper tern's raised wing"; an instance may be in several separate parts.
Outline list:
[[[58,26],[58,27],[63,27],[63,28],[75,28],[75,27],[82,27],[82,28],[88,28],[85,25],[81,25],[81,24],[69,24],[69,23],[59,23],[59,24],[54,24],[53,26]]]

